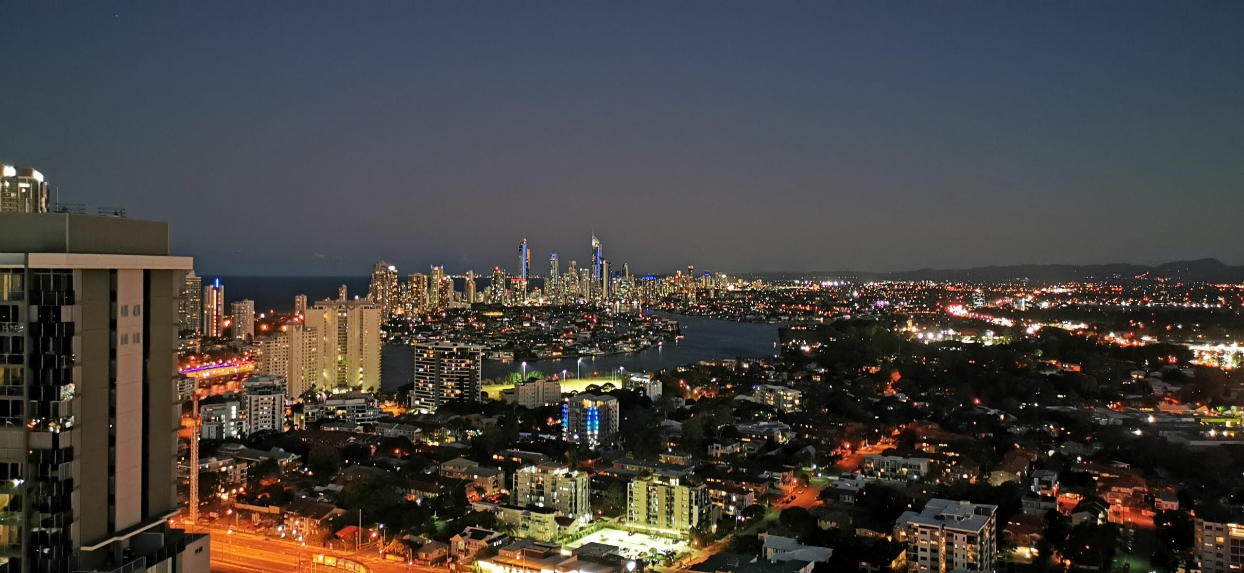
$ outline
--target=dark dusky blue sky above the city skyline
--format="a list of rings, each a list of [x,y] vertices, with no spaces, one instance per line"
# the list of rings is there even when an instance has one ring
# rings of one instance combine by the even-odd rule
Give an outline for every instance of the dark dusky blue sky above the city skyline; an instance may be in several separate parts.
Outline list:
[[[1244,2],[0,4],[0,162],[207,273],[1244,262]],[[2,231],[2,230],[0,230]]]

